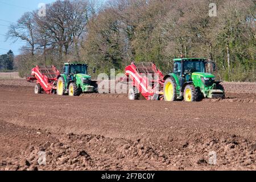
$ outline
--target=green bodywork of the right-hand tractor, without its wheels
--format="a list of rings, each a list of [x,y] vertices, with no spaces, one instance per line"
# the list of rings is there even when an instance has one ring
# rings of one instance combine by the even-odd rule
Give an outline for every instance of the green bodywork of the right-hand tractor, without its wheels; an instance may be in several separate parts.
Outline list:
[[[176,82],[176,93],[177,93],[177,98],[182,98],[183,97],[183,92],[184,88],[188,84],[192,84],[195,86],[195,88],[200,88],[201,93],[205,98],[214,98],[214,96],[220,96],[221,94],[225,94],[224,90],[219,90],[217,89],[217,84],[220,82],[215,81],[215,76],[212,75],[211,73],[206,73],[205,72],[205,63],[207,63],[206,59],[202,58],[188,58],[188,59],[183,59],[183,64],[186,63],[186,61],[189,61],[189,63],[195,63],[194,61],[197,61],[198,63],[202,62],[202,66],[204,65],[204,68],[201,69],[203,72],[173,72],[170,73],[166,76],[167,77],[172,77],[174,78]],[[201,62],[200,62],[201,61]],[[174,59],[174,63],[181,63],[181,59]],[[203,64],[204,63],[204,64]],[[182,71],[182,69],[181,69]],[[180,81],[183,79],[183,83]],[[210,80],[209,84],[205,84],[205,80]]]

